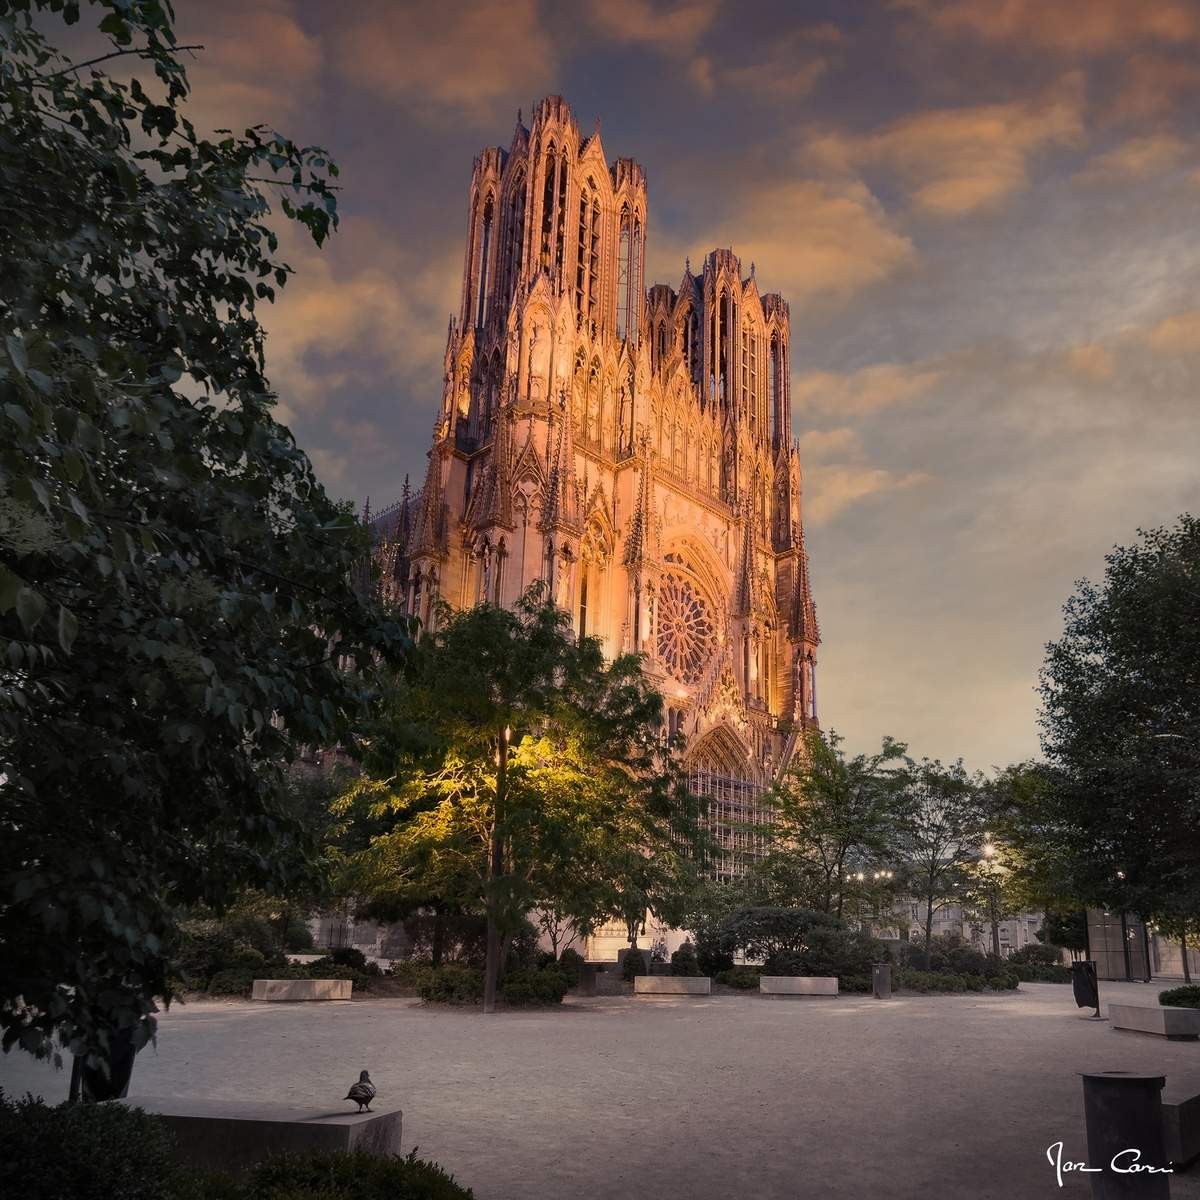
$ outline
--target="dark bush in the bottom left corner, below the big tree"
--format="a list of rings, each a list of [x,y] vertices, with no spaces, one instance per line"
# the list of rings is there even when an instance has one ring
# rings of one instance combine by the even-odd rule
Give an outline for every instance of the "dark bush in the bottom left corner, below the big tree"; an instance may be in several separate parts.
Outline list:
[[[20,1200],[161,1200],[178,1194],[170,1133],[124,1104],[60,1104],[0,1091],[0,1190]]]

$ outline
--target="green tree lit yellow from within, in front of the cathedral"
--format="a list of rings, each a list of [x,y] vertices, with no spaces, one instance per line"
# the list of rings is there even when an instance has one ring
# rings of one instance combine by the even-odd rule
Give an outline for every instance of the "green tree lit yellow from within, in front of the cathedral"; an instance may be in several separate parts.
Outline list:
[[[544,594],[442,614],[343,804],[383,823],[360,859],[372,887],[486,913],[485,1012],[527,912],[667,912],[697,828],[640,659],[606,662]]]

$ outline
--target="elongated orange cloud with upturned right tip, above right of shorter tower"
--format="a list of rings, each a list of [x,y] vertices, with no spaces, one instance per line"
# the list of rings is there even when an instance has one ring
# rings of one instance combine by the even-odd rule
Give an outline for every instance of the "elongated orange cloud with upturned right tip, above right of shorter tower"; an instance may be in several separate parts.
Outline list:
[[[1028,162],[1082,138],[1082,80],[1069,76],[1042,96],[997,104],[926,109],[868,134],[809,139],[804,157],[833,174],[889,170],[912,205],[960,217],[998,208],[1028,184]]]

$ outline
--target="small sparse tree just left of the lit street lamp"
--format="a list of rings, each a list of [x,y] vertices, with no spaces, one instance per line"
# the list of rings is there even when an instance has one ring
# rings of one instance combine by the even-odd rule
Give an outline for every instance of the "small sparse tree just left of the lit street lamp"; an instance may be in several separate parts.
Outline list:
[[[926,950],[934,913],[965,896],[988,816],[982,780],[961,761],[908,762],[901,845],[912,892],[925,904]]]

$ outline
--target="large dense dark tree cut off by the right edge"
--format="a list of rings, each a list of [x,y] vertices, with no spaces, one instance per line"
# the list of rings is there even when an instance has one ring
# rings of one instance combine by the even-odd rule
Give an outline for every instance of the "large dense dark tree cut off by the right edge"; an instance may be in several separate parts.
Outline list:
[[[1052,786],[1031,844],[1090,906],[1200,916],[1200,520],[1140,530],[1064,608],[1042,671]]]

